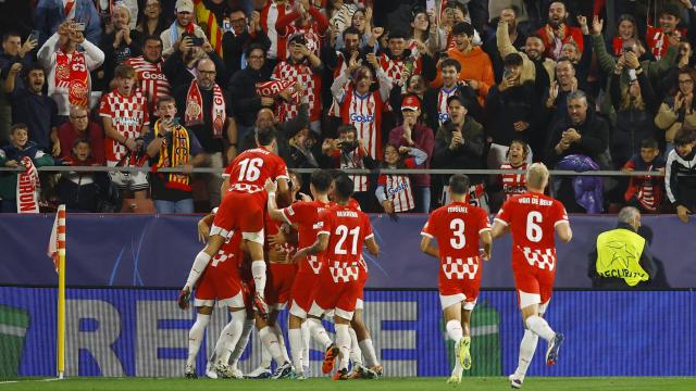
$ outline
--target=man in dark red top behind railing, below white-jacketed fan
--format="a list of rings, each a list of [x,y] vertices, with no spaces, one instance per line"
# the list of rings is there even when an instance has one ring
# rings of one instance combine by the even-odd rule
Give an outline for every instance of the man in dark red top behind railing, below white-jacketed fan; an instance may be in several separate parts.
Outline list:
[[[73,144],[77,139],[89,141],[91,163],[104,165],[104,133],[94,121],[89,119],[87,108],[72,105],[70,121],[58,128],[58,140],[61,146],[60,159],[71,157]]]

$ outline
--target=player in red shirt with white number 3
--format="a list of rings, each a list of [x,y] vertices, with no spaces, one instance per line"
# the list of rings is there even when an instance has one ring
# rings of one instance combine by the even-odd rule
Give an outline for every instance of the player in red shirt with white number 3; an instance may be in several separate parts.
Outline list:
[[[490,224],[486,212],[465,202],[469,177],[449,178],[451,202],[434,211],[421,235],[421,250],[440,260],[438,278],[447,335],[455,341],[455,368],[448,383],[460,383],[462,370],[471,368],[471,312],[476,305],[481,287],[481,258],[490,258]],[[432,240],[437,241],[437,248]],[[478,241],[483,255],[478,255]]]

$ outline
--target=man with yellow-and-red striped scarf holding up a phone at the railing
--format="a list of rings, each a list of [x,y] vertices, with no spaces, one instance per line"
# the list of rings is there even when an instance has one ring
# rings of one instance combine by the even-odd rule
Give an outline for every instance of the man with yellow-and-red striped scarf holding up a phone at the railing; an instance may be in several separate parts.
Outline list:
[[[194,167],[203,164],[206,154],[196,135],[179,125],[176,103],[172,98],[157,103],[153,131],[147,153],[153,173],[150,174],[152,200],[158,213],[194,213],[190,176]],[[158,173],[159,168],[182,168],[183,173]]]

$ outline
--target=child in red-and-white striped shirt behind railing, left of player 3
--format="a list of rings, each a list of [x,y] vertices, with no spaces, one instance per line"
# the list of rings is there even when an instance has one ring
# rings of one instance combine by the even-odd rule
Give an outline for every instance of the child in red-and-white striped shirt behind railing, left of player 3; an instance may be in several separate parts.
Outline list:
[[[401,160],[401,154],[409,157]],[[417,168],[426,159],[427,154],[418,148],[396,147],[393,143],[387,143],[384,148],[384,168]],[[389,214],[408,212],[415,207],[413,188],[408,175],[380,175],[375,195],[384,211]]]

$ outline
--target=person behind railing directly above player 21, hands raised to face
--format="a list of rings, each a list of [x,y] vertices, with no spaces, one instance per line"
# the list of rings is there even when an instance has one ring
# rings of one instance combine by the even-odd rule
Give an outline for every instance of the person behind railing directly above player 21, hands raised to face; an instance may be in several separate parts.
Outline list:
[[[338,138],[327,138],[322,144],[322,153],[334,161],[335,168],[368,168],[375,167],[375,161],[370,157],[365,141],[358,138],[358,129],[353,125],[338,127]],[[370,177],[368,175],[350,175],[355,184],[353,198],[360,203],[364,212],[374,212],[374,195],[370,193]]]

